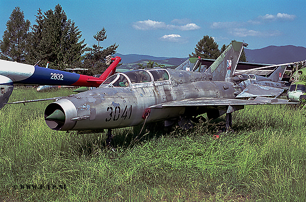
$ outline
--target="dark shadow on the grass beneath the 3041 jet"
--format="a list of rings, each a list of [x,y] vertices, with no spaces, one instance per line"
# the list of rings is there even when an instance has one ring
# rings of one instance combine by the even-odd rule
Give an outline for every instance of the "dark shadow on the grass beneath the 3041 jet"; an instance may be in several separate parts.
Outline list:
[[[180,139],[185,136],[206,135],[213,136],[220,133],[224,128],[225,122],[223,118],[209,120],[206,122],[195,123],[194,127],[189,130],[183,130],[178,125],[165,127],[164,122],[155,122],[136,127],[112,130],[113,139],[111,146],[106,145],[106,133],[82,134],[78,135],[75,132],[70,132],[66,141],[62,143],[62,149],[67,150],[69,147],[70,153],[75,153],[78,156],[90,157],[92,155],[101,154],[108,150],[120,152],[122,150],[131,149],[143,142],[151,139],[159,139],[162,136],[171,136]],[[66,144],[66,145],[63,145]],[[68,145],[68,146],[67,146]]]

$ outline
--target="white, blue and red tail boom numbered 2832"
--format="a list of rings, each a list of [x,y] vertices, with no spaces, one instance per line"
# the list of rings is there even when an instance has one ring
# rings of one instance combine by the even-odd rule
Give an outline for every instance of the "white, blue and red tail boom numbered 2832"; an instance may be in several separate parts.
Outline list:
[[[114,62],[99,78],[0,60],[0,109],[8,102],[13,91],[13,84],[98,87],[109,75],[115,73],[121,58],[115,57],[112,60]]]

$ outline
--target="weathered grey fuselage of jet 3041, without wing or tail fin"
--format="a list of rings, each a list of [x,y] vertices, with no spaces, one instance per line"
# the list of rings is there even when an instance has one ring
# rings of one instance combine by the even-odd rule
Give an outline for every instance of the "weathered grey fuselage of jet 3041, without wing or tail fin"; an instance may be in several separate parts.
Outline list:
[[[207,73],[172,69],[118,73],[99,88],[48,105],[45,110],[46,123],[54,130],[65,131],[129,127],[142,124],[145,119],[146,122],[169,120],[211,110],[158,107],[163,103],[200,97],[235,98],[242,91],[242,87],[234,83],[209,80]],[[63,112],[64,120],[47,118],[56,110]]]

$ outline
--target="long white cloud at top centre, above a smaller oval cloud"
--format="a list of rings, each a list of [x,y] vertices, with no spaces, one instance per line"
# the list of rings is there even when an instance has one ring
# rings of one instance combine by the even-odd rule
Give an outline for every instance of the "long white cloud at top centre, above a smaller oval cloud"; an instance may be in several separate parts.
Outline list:
[[[165,29],[165,30],[181,30],[181,31],[189,31],[189,30],[198,30],[200,29],[195,23],[188,23],[183,26],[177,26],[174,24],[166,24],[165,22],[159,22],[154,20],[144,20],[134,22],[133,27],[136,30],[157,30],[157,29]]]

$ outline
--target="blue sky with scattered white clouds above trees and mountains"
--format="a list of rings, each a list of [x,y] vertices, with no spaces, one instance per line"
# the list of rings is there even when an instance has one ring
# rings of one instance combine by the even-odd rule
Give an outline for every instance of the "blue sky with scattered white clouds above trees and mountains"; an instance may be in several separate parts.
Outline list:
[[[116,43],[117,53],[123,55],[186,58],[206,35],[215,39],[219,49],[232,40],[248,43],[249,49],[306,47],[304,0],[0,0],[1,39],[15,7],[33,26],[39,8],[44,13],[58,4],[89,47],[97,44],[93,36],[105,28],[108,37],[100,45]]]

